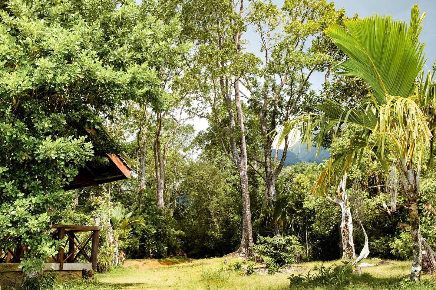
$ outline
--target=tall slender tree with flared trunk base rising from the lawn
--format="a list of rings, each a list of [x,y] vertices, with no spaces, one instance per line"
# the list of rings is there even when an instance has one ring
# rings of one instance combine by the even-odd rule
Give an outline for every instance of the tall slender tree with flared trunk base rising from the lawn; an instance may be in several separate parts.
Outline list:
[[[249,255],[254,245],[249,195],[247,142],[242,78],[259,62],[244,50],[243,33],[249,16],[243,0],[186,1],[181,19],[184,35],[194,44],[194,62],[186,82],[211,113],[202,115],[218,132],[225,155],[238,170],[242,197],[242,238],[235,254]],[[213,17],[211,17],[213,16]]]

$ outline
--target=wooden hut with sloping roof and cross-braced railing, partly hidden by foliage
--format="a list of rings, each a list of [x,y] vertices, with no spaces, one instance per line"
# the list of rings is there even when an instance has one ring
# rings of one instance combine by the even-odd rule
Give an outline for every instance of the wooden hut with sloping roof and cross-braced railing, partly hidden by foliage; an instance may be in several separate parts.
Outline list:
[[[92,135],[97,134],[94,129],[87,131]],[[110,138],[106,130],[103,135]],[[131,166],[136,163],[135,161],[127,157],[125,153],[105,153],[105,155],[109,159],[108,164],[95,164],[90,161],[79,170],[78,175],[64,189],[73,190],[130,177]],[[52,237],[59,240],[67,237],[67,240],[59,248],[58,254],[52,256],[50,262],[44,263],[44,272],[51,271],[61,279],[70,279],[81,277],[82,270],[96,270],[99,227],[52,224],[50,230]],[[91,251],[87,252],[89,243],[91,243]],[[3,259],[0,260],[0,288],[3,286],[19,287],[23,283],[24,273],[18,266],[25,250],[25,245],[17,245],[15,249],[3,249],[4,254],[0,255],[0,259]]]

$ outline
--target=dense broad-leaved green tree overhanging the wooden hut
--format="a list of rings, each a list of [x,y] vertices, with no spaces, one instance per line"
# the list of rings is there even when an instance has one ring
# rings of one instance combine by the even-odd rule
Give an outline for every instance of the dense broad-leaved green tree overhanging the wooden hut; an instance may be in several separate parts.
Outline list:
[[[0,246],[27,245],[30,274],[60,246],[47,230],[72,199],[63,188],[93,153],[119,152],[85,128],[128,100],[163,103],[152,45],[163,31],[133,0],[0,6]]]

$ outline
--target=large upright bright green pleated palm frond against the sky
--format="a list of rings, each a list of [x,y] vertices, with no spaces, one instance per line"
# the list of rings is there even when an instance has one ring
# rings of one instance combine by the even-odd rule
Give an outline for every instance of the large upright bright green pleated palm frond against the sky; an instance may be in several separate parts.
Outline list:
[[[410,97],[424,63],[419,12],[417,6],[412,9],[409,30],[403,21],[378,15],[345,22],[348,31],[337,24],[328,27],[327,36],[350,57],[335,68],[369,83],[378,104],[386,95]]]

